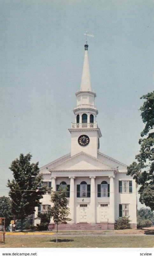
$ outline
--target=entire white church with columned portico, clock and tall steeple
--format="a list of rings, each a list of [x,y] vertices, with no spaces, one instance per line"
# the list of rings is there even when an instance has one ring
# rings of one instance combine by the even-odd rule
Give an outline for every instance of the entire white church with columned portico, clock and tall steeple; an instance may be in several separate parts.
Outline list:
[[[99,138],[94,104],[96,94],[92,92],[88,63],[88,44],[85,56],[80,92],[76,92],[74,123],[68,129],[71,135],[71,153],[40,168],[43,185],[57,191],[67,187],[70,218],[60,224],[60,230],[114,229],[115,220],[129,216],[131,227],[136,228],[136,182],[127,176],[127,165],[99,151]],[[44,195],[38,213],[47,212],[51,205],[50,194]],[[54,229],[51,219],[49,229]]]

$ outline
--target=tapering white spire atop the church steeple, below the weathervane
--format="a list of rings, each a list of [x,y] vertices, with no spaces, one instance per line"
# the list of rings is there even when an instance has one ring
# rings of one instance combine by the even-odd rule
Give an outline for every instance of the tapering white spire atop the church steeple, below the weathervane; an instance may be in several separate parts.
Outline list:
[[[86,38],[86,44],[85,44],[85,57],[84,57],[84,63],[83,63],[80,91],[90,91],[91,92],[87,38]]]

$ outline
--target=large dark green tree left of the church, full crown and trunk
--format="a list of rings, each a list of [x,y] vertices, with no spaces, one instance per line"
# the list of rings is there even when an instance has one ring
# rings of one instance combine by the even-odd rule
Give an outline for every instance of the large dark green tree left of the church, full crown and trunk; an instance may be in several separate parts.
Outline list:
[[[32,155],[24,156],[20,154],[19,159],[15,159],[10,170],[13,172],[14,179],[8,180],[10,188],[9,196],[12,199],[12,213],[17,220],[21,220],[21,231],[23,230],[23,220],[35,211],[39,206],[39,200],[46,193],[46,188],[38,190],[42,181],[42,174],[39,174],[38,162],[31,164]]]

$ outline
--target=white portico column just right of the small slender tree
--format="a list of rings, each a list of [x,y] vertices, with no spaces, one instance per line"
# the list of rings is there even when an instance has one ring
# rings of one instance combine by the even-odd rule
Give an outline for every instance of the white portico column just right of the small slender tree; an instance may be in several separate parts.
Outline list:
[[[69,208],[70,208],[70,218],[74,222],[74,179],[75,177],[69,177],[70,179],[70,198],[69,198]]]

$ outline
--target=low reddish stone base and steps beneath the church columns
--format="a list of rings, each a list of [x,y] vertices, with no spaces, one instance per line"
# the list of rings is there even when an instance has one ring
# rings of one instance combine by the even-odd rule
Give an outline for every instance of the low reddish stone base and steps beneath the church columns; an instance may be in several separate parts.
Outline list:
[[[56,230],[56,224],[50,223],[48,226],[49,230]],[[114,223],[67,223],[59,224],[58,230],[113,230],[115,227]]]

